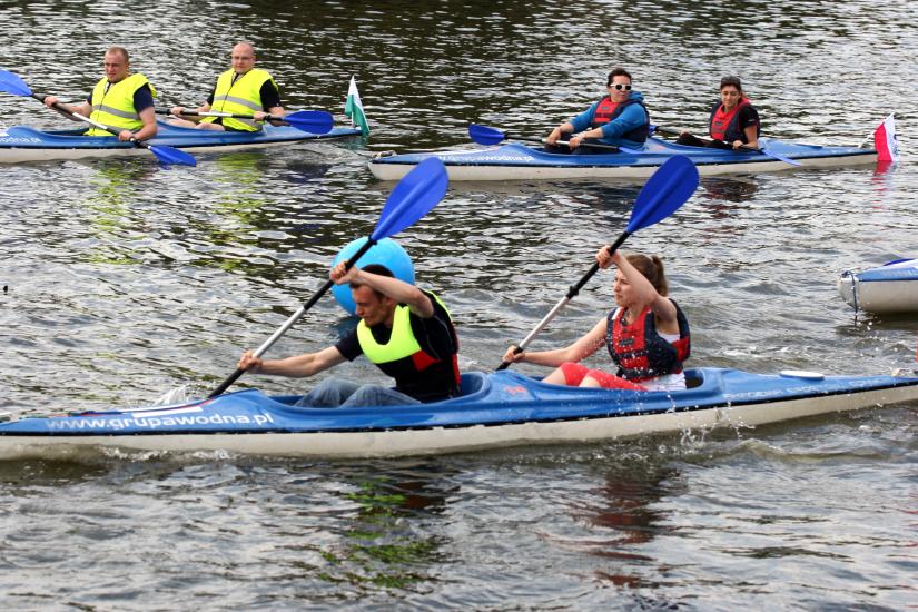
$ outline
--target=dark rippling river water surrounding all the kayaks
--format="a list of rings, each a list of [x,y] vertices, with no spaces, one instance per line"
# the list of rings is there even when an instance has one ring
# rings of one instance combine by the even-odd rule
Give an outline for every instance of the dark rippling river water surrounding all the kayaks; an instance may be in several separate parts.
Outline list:
[[[468,146],[470,122],[544,135],[618,65],[654,122],[695,131],[728,73],[769,136],[857,145],[897,112],[897,167],[703,179],[626,247],[665,260],[692,323],[689,365],[916,365],[915,317],[856,317],[835,287],[845,269],[918,256],[914,2],[0,2],[0,68],[67,100],[118,43],[160,106],[199,103],[246,38],[286,107],[344,121],[353,75],[373,128],[195,168],[0,168],[4,411],[207,393],[372,230],[392,184],[367,157]],[[18,124],[72,127],[0,96],[0,125]],[[500,363],[624,229],[639,189],[455,184],[399,236],[457,320],[462,367]],[[600,274],[533,348],[576,338],[610,302]],[[326,298],[270,355],[325,347],[345,325]],[[363,361],[336,374],[382,379]],[[247,375],[237,387],[312,384]],[[916,411],[399,461],[4,462],[0,606],[902,610],[918,575]]]

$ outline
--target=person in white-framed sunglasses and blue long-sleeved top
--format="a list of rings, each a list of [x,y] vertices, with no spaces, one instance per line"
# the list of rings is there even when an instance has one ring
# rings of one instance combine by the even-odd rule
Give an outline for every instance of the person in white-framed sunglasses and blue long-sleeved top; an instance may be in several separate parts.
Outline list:
[[[631,75],[624,68],[615,68],[606,79],[609,95],[593,102],[590,108],[554,128],[546,141],[553,152],[564,149],[554,147],[557,140],[567,138],[570,150],[578,149],[589,139],[599,145],[641,148],[650,134],[650,113],[644,107],[644,97],[631,86]],[[603,149],[584,147],[584,152],[608,152]]]

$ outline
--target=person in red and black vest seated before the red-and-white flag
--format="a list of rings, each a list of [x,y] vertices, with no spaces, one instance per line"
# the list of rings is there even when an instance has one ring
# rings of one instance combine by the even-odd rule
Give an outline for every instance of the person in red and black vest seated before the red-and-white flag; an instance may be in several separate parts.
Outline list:
[[[708,134],[712,140],[683,131],[677,142],[715,149],[739,149],[743,145],[758,149],[760,131],[759,111],[742,92],[740,78],[723,77],[720,80],[720,101],[714,102],[708,119]]]

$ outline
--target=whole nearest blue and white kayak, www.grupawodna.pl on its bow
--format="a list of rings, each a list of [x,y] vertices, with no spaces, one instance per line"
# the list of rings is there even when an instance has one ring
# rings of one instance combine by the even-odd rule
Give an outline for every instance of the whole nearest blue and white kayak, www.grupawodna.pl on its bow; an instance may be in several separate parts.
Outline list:
[[[754,427],[918,399],[908,376],[685,372],[678,392],[549,385],[504,371],[463,375],[463,395],[407,406],[304,408],[296,396],[240,391],[169,406],[0,418],[0,458],[67,456],[77,447],[377,457],[580,443],[714,427]]]

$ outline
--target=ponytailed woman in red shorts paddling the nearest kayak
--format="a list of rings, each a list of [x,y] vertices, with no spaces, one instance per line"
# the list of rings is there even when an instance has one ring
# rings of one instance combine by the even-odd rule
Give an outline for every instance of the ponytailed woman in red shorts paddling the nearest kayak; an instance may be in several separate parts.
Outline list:
[[[515,353],[511,346],[504,362],[526,362],[556,366],[543,382],[581,387],[635,391],[685,388],[682,362],[691,352],[689,322],[681,308],[667,297],[668,283],[659,257],[615,251],[609,245],[596,253],[601,268],[615,264],[616,308],[565,348]],[[616,375],[592,369],[580,362],[602,346],[618,366]]]

